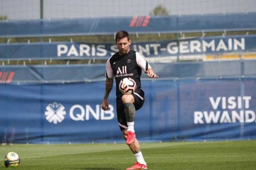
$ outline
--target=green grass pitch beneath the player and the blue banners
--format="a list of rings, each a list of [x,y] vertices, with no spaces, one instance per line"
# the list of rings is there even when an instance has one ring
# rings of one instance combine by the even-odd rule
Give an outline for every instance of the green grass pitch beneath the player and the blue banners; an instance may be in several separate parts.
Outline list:
[[[255,170],[256,140],[141,143],[149,170]],[[13,144],[19,170],[124,170],[136,160],[123,144]],[[3,159],[2,159],[3,160]],[[6,169],[2,163],[0,169]]]

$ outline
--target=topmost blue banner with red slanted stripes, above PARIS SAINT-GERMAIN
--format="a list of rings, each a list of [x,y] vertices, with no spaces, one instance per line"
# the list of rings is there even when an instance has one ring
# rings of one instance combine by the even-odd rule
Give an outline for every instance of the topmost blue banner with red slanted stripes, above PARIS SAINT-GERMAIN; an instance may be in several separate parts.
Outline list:
[[[119,30],[157,34],[255,29],[256,13],[0,21],[0,37],[99,35],[115,34]]]

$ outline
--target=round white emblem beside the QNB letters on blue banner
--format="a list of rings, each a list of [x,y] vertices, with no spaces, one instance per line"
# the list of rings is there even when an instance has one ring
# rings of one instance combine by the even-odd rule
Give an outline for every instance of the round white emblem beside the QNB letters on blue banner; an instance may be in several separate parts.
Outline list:
[[[66,115],[65,107],[61,103],[53,102],[47,105],[44,112],[48,122],[57,124],[64,120]]]

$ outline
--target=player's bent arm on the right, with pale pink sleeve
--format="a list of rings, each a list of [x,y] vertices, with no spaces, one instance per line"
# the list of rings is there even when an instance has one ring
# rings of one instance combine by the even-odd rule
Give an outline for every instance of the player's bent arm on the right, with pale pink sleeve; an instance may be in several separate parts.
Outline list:
[[[148,75],[149,78],[158,77],[157,74],[154,73],[153,68],[148,64],[147,60],[142,54],[136,52],[136,60],[137,60],[137,64],[145,72],[145,74]]]

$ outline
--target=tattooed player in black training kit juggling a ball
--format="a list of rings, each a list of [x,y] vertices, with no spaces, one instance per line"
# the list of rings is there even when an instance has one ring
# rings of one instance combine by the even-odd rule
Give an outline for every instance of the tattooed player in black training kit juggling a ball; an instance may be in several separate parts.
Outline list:
[[[134,132],[135,111],[144,104],[144,91],[141,89],[140,76],[142,71],[150,78],[157,78],[145,57],[137,51],[130,49],[131,39],[128,32],[116,33],[116,46],[118,52],[111,56],[106,63],[106,91],[102,101],[102,109],[108,110],[108,96],[113,88],[113,77],[116,80],[116,112],[117,121],[122,130],[126,144],[134,153],[137,162],[126,170],[147,169],[147,164],[140,151],[139,142]],[[137,89],[133,94],[122,94],[119,91],[119,82],[125,77],[134,79]]]

